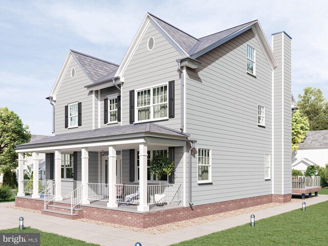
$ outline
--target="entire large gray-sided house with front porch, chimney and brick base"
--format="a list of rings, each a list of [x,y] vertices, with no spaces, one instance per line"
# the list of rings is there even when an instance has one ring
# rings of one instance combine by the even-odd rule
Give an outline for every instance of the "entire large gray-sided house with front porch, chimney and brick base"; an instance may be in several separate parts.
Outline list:
[[[20,168],[23,153],[46,153],[55,202],[43,213],[72,194],[78,216],[149,227],[290,201],[291,37],[272,42],[257,20],[195,38],[148,13],[120,65],[70,50],[47,97],[55,136],[16,149]],[[176,166],[161,213],[156,153]],[[17,206],[43,208],[28,199],[20,186]]]

